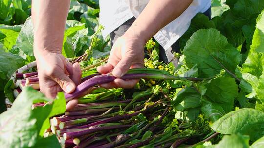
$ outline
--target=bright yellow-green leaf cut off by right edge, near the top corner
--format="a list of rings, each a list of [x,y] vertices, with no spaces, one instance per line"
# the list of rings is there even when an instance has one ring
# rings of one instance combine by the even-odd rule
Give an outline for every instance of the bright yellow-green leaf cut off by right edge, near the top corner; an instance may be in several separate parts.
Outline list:
[[[259,15],[256,22],[250,52],[264,52],[264,11]]]

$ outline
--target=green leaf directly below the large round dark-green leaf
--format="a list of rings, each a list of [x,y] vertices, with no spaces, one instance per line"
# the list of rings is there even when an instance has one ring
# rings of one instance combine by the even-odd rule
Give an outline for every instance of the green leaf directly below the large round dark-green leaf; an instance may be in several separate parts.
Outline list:
[[[216,121],[232,111],[234,100],[238,96],[238,85],[234,78],[220,76],[209,81],[205,87],[201,110],[206,118]]]

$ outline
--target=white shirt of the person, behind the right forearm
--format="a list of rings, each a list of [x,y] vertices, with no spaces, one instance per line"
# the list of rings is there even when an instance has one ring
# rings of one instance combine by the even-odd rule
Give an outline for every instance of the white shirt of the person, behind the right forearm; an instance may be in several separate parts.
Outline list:
[[[132,17],[138,17],[149,0],[99,0],[100,23],[106,37]],[[154,35],[155,40],[165,49],[170,49],[189,28],[191,19],[199,12],[203,13],[211,6],[211,0],[193,0],[191,5],[175,20]],[[177,9],[177,6],[175,6]]]

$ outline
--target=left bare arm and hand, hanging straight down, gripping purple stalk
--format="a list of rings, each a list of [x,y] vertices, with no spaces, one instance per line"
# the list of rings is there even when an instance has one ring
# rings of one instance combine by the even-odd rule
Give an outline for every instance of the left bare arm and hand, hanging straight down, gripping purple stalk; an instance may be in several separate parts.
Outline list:
[[[70,0],[32,0],[34,56],[41,92],[49,98],[55,98],[62,90],[73,92],[81,79],[79,64],[66,63],[61,54],[69,5]],[[77,103],[72,100],[66,108],[73,108]]]

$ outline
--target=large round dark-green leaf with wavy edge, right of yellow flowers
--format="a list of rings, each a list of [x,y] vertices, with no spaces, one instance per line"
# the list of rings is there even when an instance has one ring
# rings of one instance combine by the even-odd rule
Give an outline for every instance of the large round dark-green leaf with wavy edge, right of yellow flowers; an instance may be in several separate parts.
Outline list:
[[[234,74],[241,55],[216,29],[200,29],[183,50],[187,67],[198,66],[200,77],[220,74],[222,69]]]

